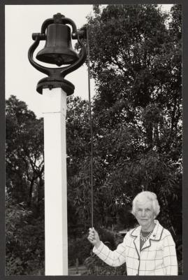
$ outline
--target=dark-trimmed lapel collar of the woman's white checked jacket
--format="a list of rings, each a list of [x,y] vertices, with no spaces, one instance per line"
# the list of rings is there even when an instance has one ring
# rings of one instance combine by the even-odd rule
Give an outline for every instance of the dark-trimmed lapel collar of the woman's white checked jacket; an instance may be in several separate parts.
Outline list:
[[[161,240],[161,235],[162,235],[164,228],[160,225],[159,221],[154,220],[154,223],[155,223],[155,227],[152,232],[152,235],[150,235],[150,238],[148,238],[147,241],[145,241],[145,244],[143,245],[143,248],[141,249],[141,251],[143,251],[143,249],[145,249],[145,248],[150,247],[151,241]],[[137,228],[134,228],[133,230],[131,230],[131,233],[130,233],[130,236],[134,239],[133,243],[134,243],[134,246],[136,247],[138,256],[140,253],[140,230],[141,230],[141,226],[139,225]]]

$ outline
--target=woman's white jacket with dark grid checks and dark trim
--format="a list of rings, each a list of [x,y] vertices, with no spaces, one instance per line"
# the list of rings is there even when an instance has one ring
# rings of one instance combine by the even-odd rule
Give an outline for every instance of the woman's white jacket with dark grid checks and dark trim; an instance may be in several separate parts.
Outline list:
[[[175,242],[171,233],[159,221],[140,250],[141,226],[129,230],[115,251],[101,244],[93,252],[108,265],[117,267],[126,262],[127,275],[178,275]]]

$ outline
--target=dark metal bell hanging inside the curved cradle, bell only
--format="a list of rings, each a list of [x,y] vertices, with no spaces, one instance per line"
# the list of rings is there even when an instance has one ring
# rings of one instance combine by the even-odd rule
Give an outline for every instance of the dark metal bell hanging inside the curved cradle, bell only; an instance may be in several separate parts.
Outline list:
[[[59,23],[48,25],[45,47],[38,52],[36,59],[57,66],[76,62],[79,56],[71,44],[71,28]]]

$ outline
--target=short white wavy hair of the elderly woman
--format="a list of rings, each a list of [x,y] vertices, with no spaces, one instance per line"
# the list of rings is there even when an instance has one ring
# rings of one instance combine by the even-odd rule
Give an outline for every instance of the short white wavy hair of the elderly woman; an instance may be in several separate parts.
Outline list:
[[[136,195],[136,197],[134,197],[133,207],[132,207],[132,211],[131,211],[133,216],[136,216],[136,203],[137,202],[145,202],[145,201],[151,201],[152,202],[154,215],[155,215],[155,217],[157,217],[157,215],[160,212],[160,206],[159,206],[159,202],[157,200],[157,195],[155,193],[152,193],[152,192],[149,192],[149,191],[144,191],[144,192],[138,193],[138,195]]]

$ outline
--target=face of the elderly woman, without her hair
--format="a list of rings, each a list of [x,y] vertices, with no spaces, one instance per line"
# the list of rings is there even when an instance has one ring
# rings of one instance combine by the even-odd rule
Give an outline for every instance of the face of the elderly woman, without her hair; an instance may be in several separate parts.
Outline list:
[[[136,219],[143,230],[150,231],[153,229],[154,218],[151,201],[136,202]]]

